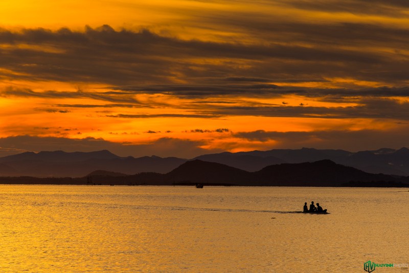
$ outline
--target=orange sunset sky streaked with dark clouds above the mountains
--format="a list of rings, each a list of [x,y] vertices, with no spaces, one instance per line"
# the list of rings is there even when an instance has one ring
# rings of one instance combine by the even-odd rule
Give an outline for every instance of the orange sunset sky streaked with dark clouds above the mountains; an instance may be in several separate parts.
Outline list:
[[[3,0],[0,156],[409,147],[406,0]]]

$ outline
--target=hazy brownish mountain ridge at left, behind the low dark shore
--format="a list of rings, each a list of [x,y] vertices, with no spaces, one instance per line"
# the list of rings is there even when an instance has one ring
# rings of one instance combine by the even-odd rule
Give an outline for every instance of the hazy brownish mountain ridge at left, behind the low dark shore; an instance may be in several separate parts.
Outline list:
[[[138,172],[167,173],[185,159],[158,156],[120,157],[107,150],[96,152],[25,152],[0,158],[0,176],[82,177],[95,170],[127,175]]]

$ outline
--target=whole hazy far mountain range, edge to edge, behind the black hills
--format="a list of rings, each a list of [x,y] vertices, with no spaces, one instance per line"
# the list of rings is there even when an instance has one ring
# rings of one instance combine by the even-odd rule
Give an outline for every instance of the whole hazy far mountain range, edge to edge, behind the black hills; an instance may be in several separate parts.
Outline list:
[[[273,149],[269,151],[222,152],[200,155],[190,160],[177,157],[120,157],[107,150],[96,152],[42,151],[0,157],[0,176],[82,177],[96,170],[134,175],[167,174],[178,166],[200,160],[219,163],[242,171],[257,172],[278,164],[312,163],[330,160],[367,173],[409,175],[409,149],[382,148],[373,151]]]

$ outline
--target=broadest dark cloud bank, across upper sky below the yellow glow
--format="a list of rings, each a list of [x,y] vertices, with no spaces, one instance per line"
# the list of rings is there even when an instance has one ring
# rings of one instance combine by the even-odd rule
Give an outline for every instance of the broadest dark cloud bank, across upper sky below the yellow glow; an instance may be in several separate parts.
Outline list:
[[[87,27],[84,32],[70,29],[23,29],[12,32],[2,29],[0,44],[8,47],[2,50],[1,67],[5,70],[0,72],[0,77],[113,86],[138,84],[145,86],[141,91],[147,93],[156,92],[154,83],[173,84],[175,79],[189,82],[185,86],[189,89],[191,84],[197,89],[214,81],[241,82],[248,84],[248,88],[239,86],[237,89],[247,92],[272,88],[272,85],[265,88],[252,86],[254,82],[267,83],[270,79],[278,82],[297,82],[300,79],[324,81],[326,77],[370,80],[379,78],[379,75],[356,75],[357,71],[378,69],[380,66],[382,71],[400,71],[381,73],[383,80],[402,81],[408,78],[405,69],[408,61],[403,58],[403,53],[399,53],[408,42],[407,30],[348,23],[277,24],[271,21],[270,16],[243,15],[232,13],[221,17],[220,14],[220,18],[212,17],[209,20],[213,24],[220,20],[221,26],[235,26],[254,35],[253,43],[183,40],[146,29],[139,32],[118,31],[109,26],[96,29]],[[324,44],[329,41],[332,45]],[[21,43],[35,48],[19,48],[17,45]],[[362,44],[370,44],[373,48],[387,46],[391,53],[362,50],[358,46]],[[205,62],[196,63],[197,59]],[[223,61],[215,64],[215,59]],[[10,75],[7,71],[17,74]],[[168,88],[174,92],[172,86]],[[219,92],[227,91],[219,89]],[[191,92],[202,93],[206,90]]]

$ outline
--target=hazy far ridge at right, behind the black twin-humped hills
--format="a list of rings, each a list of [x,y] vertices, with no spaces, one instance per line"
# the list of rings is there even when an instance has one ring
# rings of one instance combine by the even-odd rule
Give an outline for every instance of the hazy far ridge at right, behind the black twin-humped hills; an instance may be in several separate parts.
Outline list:
[[[215,153],[195,157],[195,159],[216,162],[246,171],[258,171],[280,163],[304,163],[331,160],[369,173],[409,175],[409,149],[382,148],[374,151],[349,152],[344,150],[274,149],[237,153]]]

